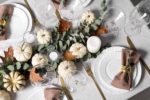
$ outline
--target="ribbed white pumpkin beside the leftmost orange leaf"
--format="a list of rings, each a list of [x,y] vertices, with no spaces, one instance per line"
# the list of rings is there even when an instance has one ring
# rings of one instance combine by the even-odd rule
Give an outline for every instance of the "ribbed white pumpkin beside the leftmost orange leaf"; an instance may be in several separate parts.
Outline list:
[[[22,43],[14,48],[14,57],[17,61],[28,61],[32,56],[32,46],[28,43]]]

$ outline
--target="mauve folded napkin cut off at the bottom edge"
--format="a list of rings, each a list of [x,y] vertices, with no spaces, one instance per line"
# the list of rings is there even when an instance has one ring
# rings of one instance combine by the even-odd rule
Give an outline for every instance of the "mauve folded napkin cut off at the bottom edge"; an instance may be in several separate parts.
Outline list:
[[[62,91],[59,88],[45,88],[45,100],[62,100]]]

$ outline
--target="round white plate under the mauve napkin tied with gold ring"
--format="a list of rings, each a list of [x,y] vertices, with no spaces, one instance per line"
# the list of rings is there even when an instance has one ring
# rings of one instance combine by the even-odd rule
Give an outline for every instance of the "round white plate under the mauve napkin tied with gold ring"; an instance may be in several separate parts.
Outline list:
[[[115,91],[113,93],[125,93],[128,92],[124,89],[119,89],[111,85],[115,75],[120,72],[122,61],[122,49],[123,47],[110,47],[105,49],[100,56],[97,57],[93,72],[103,87],[108,91]],[[142,75],[142,69],[140,62],[134,66],[132,88],[133,90],[140,82]]]

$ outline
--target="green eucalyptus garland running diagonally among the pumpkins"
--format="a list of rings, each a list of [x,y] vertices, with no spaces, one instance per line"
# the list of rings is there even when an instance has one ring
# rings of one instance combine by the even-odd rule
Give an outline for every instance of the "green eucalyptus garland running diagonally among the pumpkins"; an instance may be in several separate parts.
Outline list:
[[[92,23],[87,24],[87,22],[80,23],[79,27],[73,29],[69,28],[69,30],[60,32],[59,27],[55,27],[51,30],[52,34],[52,40],[49,41],[47,44],[40,44],[40,45],[34,45],[33,48],[33,54],[41,53],[41,54],[49,54],[53,51],[57,51],[59,53],[64,53],[65,51],[69,50],[70,46],[76,42],[82,43],[83,45],[86,45],[87,39],[94,35],[92,33],[95,33],[99,27],[102,24],[103,16],[105,12],[107,11],[107,4],[106,0],[103,0],[101,3],[100,9],[100,16],[96,18]],[[9,48],[11,49],[11,48]],[[13,71],[18,71],[22,75],[25,76],[26,80],[29,79],[29,70],[32,67],[31,65],[31,59],[26,62],[19,62],[14,57],[13,54],[10,54],[11,50],[8,52],[5,52],[5,57],[1,57],[3,59],[3,63],[0,64],[0,89],[4,89],[3,85],[3,76],[9,74]],[[87,52],[86,55],[81,59],[76,59],[74,62],[78,62],[80,60],[87,60],[89,58],[96,57],[99,52],[97,53],[90,53]],[[63,54],[61,54],[63,55]],[[50,70],[56,70],[58,64],[63,61],[64,58],[60,58],[57,61],[49,61],[46,65],[49,67]],[[42,70],[39,69],[38,72]],[[43,75],[42,72],[45,73],[45,71],[41,71],[40,75]]]

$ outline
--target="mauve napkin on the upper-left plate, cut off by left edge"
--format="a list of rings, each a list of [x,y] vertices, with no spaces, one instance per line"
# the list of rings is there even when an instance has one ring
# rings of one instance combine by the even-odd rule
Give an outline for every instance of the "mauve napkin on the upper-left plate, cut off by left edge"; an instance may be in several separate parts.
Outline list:
[[[0,5],[0,40],[7,38],[6,31],[12,13],[12,5]]]

